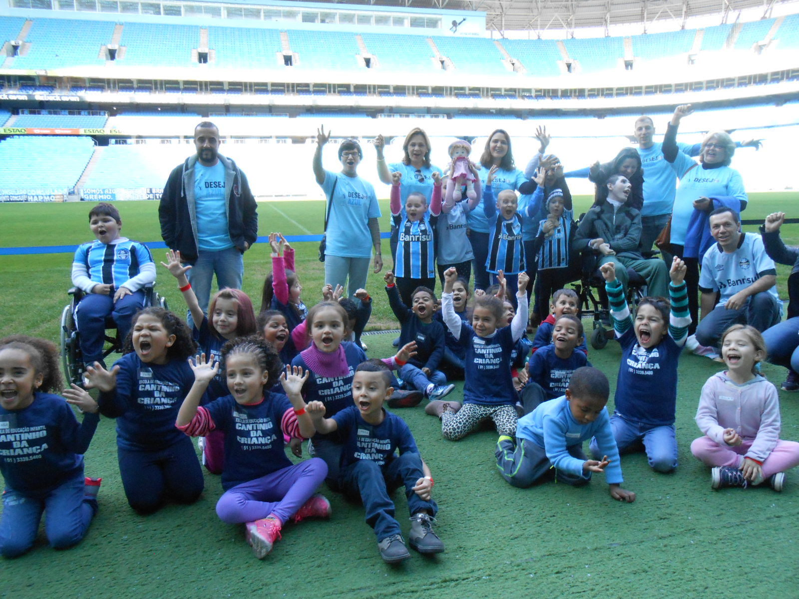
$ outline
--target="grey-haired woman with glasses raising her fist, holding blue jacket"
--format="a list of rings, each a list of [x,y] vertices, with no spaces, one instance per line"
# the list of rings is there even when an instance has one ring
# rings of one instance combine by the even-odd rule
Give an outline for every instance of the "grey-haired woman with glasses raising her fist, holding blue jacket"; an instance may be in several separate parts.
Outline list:
[[[722,207],[740,214],[747,202],[741,175],[729,168],[735,143],[727,133],[716,131],[705,137],[698,163],[678,150],[678,126],[682,117],[693,112],[690,104],[674,109],[662,146],[663,157],[680,180],[671,212],[670,252],[682,258],[688,269],[686,285],[691,334],[698,323],[699,261],[713,244],[708,215]]]

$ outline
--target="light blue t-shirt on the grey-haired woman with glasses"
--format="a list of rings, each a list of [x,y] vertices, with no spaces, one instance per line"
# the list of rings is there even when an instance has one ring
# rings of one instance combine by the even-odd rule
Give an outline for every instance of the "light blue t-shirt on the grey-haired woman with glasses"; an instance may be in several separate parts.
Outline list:
[[[733,196],[738,200],[747,201],[741,175],[737,170],[730,169],[729,166],[704,169],[702,165],[697,165],[693,158],[678,152],[671,168],[680,177],[680,186],[677,188],[671,216],[671,243],[673,244],[686,244],[688,223],[694,213],[694,200],[698,200],[700,197]],[[646,204],[646,200],[644,200],[644,204]]]

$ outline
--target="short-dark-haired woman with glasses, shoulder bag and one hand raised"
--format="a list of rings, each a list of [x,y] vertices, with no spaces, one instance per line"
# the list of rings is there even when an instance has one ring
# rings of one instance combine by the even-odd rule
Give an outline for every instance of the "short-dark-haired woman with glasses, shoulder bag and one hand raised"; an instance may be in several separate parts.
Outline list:
[[[380,254],[380,205],[375,188],[358,177],[358,165],[364,157],[360,144],[347,139],[339,145],[341,172],[332,173],[322,167],[322,148],[330,141],[324,126],[316,131],[316,152],[313,174],[316,183],[328,197],[328,228],[324,252],[324,282],[347,286],[348,296],[366,287],[372,246],[375,248],[375,272],[383,269]]]

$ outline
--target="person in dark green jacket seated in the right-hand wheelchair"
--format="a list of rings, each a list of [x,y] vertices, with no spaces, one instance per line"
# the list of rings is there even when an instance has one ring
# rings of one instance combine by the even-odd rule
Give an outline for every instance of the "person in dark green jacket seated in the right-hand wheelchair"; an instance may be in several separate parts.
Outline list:
[[[594,250],[598,260],[594,268],[608,262],[615,263],[616,276],[627,288],[626,268],[632,268],[646,280],[647,295],[666,297],[669,272],[663,260],[647,260],[642,256],[641,212],[632,208],[627,198],[630,181],[623,175],[611,175],[607,180],[607,198],[594,205],[580,220],[574,234],[572,250]]]

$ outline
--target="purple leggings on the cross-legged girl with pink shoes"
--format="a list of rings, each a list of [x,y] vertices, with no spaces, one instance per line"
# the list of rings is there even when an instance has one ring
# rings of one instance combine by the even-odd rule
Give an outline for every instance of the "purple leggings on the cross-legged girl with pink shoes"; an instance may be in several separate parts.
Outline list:
[[[242,482],[219,498],[217,515],[228,524],[252,522],[267,516],[285,524],[308,501],[327,474],[324,460],[311,458]]]

